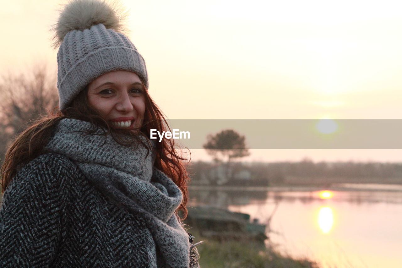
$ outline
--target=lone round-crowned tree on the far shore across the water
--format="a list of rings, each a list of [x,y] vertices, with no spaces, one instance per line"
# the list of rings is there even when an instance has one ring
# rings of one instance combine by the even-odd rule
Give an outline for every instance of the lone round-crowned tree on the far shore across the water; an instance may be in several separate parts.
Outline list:
[[[203,145],[216,163],[225,163],[228,179],[232,177],[229,174],[232,159],[250,155],[248,148],[246,148],[245,139],[245,136],[241,136],[238,132],[227,129],[215,135],[209,134],[207,143]]]

